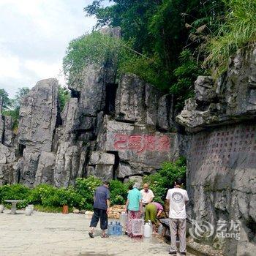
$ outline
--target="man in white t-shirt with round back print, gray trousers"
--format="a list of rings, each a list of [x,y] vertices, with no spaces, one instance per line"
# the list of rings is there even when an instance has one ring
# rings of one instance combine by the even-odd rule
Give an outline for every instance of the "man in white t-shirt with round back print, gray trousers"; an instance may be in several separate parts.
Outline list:
[[[181,255],[186,255],[186,203],[189,200],[187,191],[181,189],[182,181],[178,178],[175,187],[169,189],[166,195],[167,201],[170,203],[170,255],[177,254],[176,236],[180,241]]]

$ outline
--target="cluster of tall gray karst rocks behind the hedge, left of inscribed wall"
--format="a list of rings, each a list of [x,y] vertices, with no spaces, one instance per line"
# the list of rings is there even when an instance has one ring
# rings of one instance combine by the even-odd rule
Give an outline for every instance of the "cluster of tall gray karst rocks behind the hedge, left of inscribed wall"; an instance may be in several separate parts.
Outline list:
[[[118,28],[101,32],[120,37]],[[21,103],[15,146],[2,117],[1,184],[67,187],[89,175],[127,180],[176,159],[172,99],[136,75],[116,80],[116,69],[115,58],[84,67],[70,79],[61,113],[57,80],[39,81]]]

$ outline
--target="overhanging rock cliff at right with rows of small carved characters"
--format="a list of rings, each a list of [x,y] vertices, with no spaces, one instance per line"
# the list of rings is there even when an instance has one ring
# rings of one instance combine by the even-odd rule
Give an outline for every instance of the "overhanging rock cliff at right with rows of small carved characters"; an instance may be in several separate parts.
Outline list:
[[[240,240],[198,239],[221,247],[225,255],[256,251],[256,48],[238,51],[217,83],[209,77],[195,82],[195,99],[188,99],[176,121],[187,131],[189,219],[237,223]],[[233,230],[230,231],[232,233]],[[234,231],[233,231],[234,232]]]

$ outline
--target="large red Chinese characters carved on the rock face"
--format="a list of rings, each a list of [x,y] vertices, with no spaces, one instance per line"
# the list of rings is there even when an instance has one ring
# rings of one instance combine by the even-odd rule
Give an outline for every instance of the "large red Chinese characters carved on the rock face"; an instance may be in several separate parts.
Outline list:
[[[114,136],[116,150],[132,150],[138,154],[145,151],[170,151],[170,138],[167,135],[124,135]]]

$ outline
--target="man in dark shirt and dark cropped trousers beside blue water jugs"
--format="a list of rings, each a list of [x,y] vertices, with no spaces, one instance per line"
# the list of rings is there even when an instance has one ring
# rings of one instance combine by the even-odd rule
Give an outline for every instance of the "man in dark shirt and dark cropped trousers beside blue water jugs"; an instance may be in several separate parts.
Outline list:
[[[108,229],[108,212],[110,207],[110,192],[109,182],[105,181],[100,187],[97,187],[94,192],[94,215],[91,218],[90,238],[94,238],[94,227],[97,226],[100,219],[100,229],[102,230],[102,238],[107,238],[105,230]]]

